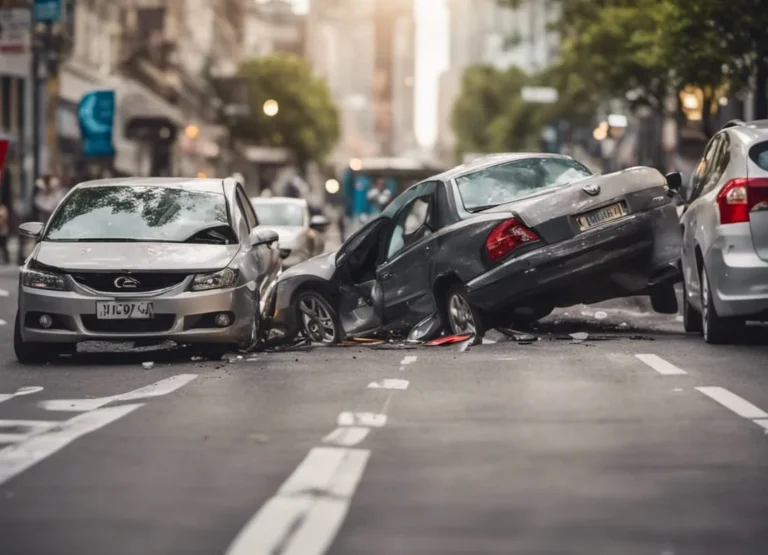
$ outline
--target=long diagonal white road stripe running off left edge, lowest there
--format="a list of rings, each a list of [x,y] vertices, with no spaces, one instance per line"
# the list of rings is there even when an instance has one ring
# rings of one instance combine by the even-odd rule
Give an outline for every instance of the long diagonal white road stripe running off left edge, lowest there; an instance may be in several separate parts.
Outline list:
[[[142,406],[144,405],[140,403],[121,405],[80,414],[26,441],[0,449],[0,485],[63,449],[79,437],[103,428]]]

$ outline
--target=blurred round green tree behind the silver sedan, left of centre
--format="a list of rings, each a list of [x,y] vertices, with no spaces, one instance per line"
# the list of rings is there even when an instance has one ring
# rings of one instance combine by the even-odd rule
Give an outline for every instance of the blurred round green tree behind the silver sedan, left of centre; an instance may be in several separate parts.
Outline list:
[[[250,115],[231,122],[233,137],[288,148],[301,167],[323,161],[339,139],[339,113],[327,83],[312,75],[307,62],[275,54],[248,60],[239,74],[248,82]],[[272,117],[264,110],[268,100],[278,103]]]

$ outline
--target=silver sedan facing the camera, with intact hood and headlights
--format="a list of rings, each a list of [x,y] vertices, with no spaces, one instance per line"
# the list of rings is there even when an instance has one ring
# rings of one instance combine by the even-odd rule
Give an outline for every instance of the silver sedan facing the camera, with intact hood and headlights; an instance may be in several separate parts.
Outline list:
[[[20,228],[38,243],[19,277],[16,357],[92,340],[250,347],[281,271],[277,233],[258,224],[232,179],[75,186],[46,224]]]

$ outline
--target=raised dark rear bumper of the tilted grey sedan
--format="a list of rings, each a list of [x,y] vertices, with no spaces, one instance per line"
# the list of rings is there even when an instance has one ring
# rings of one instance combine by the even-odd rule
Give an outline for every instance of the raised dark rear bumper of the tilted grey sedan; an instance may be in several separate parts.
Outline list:
[[[492,311],[567,288],[595,274],[613,274],[634,294],[680,281],[679,225],[673,204],[514,257],[467,284],[470,301]]]

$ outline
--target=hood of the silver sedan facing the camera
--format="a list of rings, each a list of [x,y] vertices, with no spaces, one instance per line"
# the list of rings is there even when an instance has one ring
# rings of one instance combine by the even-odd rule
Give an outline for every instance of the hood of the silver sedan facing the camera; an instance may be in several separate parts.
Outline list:
[[[47,266],[73,271],[199,272],[225,268],[239,249],[240,245],[43,241],[36,247],[34,259]]]

